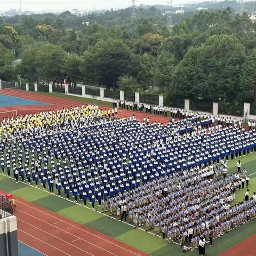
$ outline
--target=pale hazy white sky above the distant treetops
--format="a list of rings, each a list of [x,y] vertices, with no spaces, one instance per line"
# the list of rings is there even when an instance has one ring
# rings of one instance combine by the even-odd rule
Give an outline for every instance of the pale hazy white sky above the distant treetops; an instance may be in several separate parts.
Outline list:
[[[188,3],[193,0],[173,1],[173,5]],[[167,4],[167,0],[141,0],[140,4]],[[41,10],[92,10],[93,5],[96,9],[111,9],[129,6],[129,0],[21,0],[21,10],[41,11]],[[19,0],[0,0],[0,10],[19,9]]]

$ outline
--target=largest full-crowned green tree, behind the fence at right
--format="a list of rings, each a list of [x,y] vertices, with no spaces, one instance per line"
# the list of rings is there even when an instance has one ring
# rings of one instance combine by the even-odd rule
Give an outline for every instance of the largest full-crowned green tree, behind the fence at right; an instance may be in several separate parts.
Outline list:
[[[244,46],[233,35],[214,35],[199,47],[190,47],[175,68],[173,92],[190,98],[234,100]]]

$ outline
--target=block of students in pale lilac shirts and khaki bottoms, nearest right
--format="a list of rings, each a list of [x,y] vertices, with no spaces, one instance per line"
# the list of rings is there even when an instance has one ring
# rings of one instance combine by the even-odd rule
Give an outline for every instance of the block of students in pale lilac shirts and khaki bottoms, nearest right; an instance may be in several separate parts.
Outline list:
[[[211,237],[217,238],[255,218],[255,193],[249,200],[247,190],[245,202],[231,206],[234,175],[216,181],[211,173],[206,177],[204,173],[205,170],[196,169],[161,178],[160,182],[148,182],[131,193],[125,191],[110,198],[110,208],[114,204],[119,219],[124,215],[122,206],[125,205],[135,226],[154,229],[155,235],[162,231],[163,238],[167,235],[169,242],[181,239],[183,243],[189,239],[191,247],[196,247],[198,242],[193,237],[203,234],[209,238],[211,233]]]

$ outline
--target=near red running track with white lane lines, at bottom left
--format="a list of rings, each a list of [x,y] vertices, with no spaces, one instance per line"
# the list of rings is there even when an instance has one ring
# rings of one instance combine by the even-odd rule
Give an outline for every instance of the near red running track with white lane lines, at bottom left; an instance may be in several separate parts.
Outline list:
[[[41,206],[13,198],[19,241],[48,256],[148,255]]]

